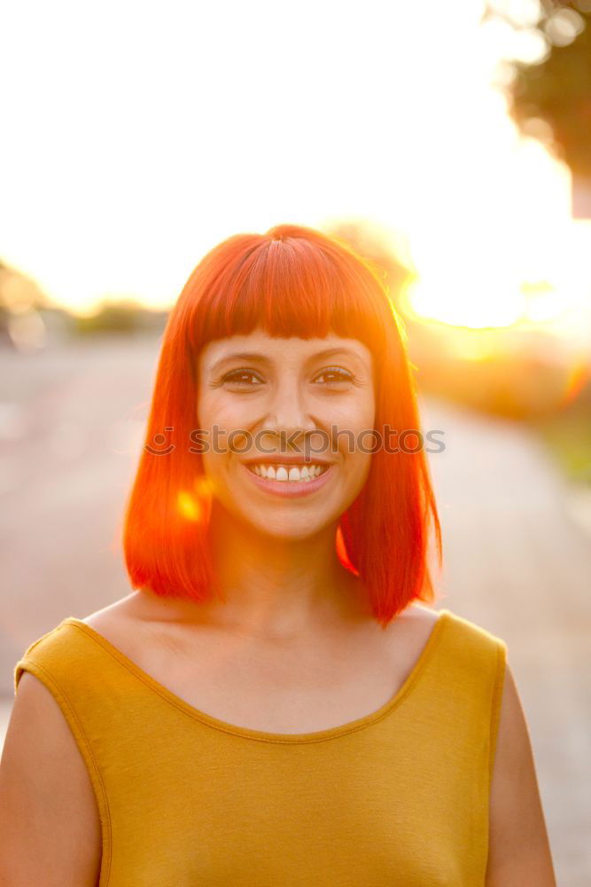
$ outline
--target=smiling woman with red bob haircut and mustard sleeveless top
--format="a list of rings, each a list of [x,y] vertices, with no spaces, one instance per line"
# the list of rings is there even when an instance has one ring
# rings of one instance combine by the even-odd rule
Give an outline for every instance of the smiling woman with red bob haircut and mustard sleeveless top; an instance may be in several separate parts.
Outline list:
[[[15,668],[1,883],[555,883],[506,645],[424,606],[417,428],[369,263],[289,225],[206,256],[128,502],[135,591]]]

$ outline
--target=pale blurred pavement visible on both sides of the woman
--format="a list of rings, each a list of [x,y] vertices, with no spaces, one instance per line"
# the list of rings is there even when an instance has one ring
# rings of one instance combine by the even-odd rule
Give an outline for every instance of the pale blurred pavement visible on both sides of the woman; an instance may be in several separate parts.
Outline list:
[[[28,644],[129,592],[119,523],[158,350],[156,338],[0,350],[0,730]],[[557,881],[587,887],[590,540],[522,428],[432,401],[423,424],[444,431],[446,443],[431,460],[446,557],[438,606],[506,640]]]

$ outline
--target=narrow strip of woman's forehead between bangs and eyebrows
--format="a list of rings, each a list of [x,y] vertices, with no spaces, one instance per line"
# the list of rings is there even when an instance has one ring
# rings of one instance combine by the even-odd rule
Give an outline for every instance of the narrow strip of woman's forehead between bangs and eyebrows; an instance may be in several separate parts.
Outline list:
[[[342,355],[362,365],[371,364],[369,349],[357,339],[346,339],[335,334],[323,339],[300,339],[298,336],[280,338],[257,330],[247,335],[233,335],[208,342],[199,356],[199,367],[201,371],[206,371],[234,357],[263,359],[278,365],[300,363],[314,357],[330,357],[330,352],[334,352],[335,358]]]

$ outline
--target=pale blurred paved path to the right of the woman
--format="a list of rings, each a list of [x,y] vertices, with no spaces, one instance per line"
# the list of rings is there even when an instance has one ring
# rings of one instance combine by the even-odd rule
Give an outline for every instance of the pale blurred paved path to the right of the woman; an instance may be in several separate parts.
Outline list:
[[[426,404],[444,529],[442,605],[508,644],[560,887],[591,875],[591,538],[533,436]]]

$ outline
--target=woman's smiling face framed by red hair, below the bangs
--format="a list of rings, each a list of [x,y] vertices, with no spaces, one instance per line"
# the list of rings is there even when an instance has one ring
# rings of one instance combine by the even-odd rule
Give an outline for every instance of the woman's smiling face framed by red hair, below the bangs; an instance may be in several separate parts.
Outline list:
[[[371,446],[360,436],[374,417],[361,341],[255,331],[212,341],[199,357],[198,427],[214,497],[266,535],[307,538],[338,522],[369,474],[358,442]]]

